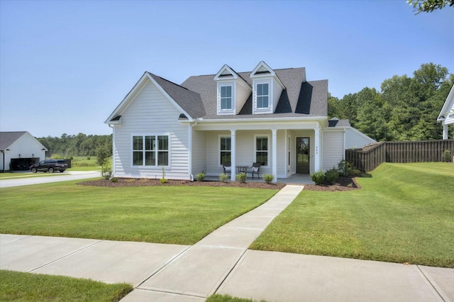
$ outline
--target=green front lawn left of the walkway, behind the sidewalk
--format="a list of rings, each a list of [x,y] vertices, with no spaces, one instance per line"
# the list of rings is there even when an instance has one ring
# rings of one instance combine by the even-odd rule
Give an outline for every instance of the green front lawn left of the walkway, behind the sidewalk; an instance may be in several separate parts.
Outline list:
[[[0,189],[0,233],[192,245],[277,190],[209,186]]]

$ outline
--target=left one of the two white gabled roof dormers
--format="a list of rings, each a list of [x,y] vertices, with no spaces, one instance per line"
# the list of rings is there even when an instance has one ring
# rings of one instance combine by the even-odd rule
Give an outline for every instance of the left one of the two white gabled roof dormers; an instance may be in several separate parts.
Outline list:
[[[224,65],[214,76],[217,82],[217,113],[238,114],[248,99],[252,88],[235,70]]]

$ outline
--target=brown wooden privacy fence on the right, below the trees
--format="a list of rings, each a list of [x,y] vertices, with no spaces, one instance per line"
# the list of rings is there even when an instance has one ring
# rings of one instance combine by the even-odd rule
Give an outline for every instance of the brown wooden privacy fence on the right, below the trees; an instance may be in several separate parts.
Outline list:
[[[377,142],[362,149],[345,150],[345,160],[361,172],[370,172],[382,162],[442,162],[445,150],[454,156],[454,140]]]

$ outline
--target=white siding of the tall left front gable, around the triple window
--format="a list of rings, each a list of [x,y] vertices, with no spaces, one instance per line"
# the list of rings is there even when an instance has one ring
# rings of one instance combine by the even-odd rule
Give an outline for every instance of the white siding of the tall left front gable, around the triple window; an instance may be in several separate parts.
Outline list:
[[[121,113],[121,125],[115,130],[116,177],[162,177],[162,167],[133,167],[131,160],[132,135],[169,135],[170,167],[165,168],[167,179],[189,179],[188,128],[177,119],[176,106],[147,80]]]

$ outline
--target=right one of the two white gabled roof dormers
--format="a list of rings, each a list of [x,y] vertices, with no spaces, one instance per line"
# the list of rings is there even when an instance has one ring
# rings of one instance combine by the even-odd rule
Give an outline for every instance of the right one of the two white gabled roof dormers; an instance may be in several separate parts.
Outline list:
[[[262,61],[249,77],[253,79],[253,114],[275,112],[282,90],[285,89],[276,72]]]

